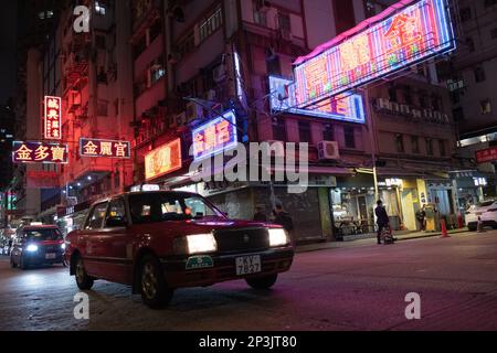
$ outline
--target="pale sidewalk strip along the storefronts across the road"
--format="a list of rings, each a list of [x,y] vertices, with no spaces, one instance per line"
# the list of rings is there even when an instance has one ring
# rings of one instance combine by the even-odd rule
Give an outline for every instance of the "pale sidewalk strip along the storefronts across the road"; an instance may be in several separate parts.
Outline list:
[[[452,229],[447,233],[451,234],[459,234],[469,232],[467,228],[461,229]],[[412,240],[412,239],[421,239],[421,238],[430,238],[430,237],[440,237],[442,236],[442,232],[394,232],[394,236],[398,242]],[[370,234],[364,238],[358,238],[355,240],[347,242],[327,242],[327,243],[317,243],[317,244],[305,244],[297,245],[296,253],[310,253],[318,252],[325,249],[334,249],[334,248],[343,248],[343,247],[355,247],[355,246],[366,246],[377,244],[377,235]]]

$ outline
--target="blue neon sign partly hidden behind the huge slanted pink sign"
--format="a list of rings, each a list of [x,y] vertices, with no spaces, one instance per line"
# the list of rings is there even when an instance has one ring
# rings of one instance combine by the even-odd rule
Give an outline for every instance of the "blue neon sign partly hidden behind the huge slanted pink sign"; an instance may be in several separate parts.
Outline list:
[[[313,109],[297,108],[295,85],[292,81],[269,76],[271,110],[288,114],[306,115],[349,122],[366,122],[362,96],[343,94],[319,103]]]

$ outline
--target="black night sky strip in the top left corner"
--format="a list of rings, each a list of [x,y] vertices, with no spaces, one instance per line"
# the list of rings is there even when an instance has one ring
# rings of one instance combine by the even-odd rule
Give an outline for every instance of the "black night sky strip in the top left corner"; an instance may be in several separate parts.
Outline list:
[[[15,89],[17,1],[2,1],[0,11],[0,104]]]

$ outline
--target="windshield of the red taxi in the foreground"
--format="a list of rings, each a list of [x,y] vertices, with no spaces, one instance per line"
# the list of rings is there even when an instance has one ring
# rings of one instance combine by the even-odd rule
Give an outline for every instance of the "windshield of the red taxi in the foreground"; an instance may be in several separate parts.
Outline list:
[[[130,195],[129,210],[134,224],[223,217],[203,197],[192,194],[144,193]]]

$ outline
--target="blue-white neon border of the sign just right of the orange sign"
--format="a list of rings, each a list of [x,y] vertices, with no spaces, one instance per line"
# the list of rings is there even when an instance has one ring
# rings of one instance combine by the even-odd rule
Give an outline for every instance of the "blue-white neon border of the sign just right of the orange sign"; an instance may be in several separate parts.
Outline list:
[[[209,150],[208,152],[200,152],[198,150],[198,145],[195,143],[197,137],[199,135],[204,135],[205,130],[212,127],[218,126],[220,122],[228,121],[229,122],[229,133],[230,139],[228,142],[223,143],[216,143],[213,149]],[[192,141],[193,141],[193,159],[195,161],[200,161],[203,159],[211,158],[224,150],[230,150],[232,148],[235,148],[239,143],[239,132],[236,130],[236,115],[234,110],[228,110],[222,116],[214,118],[213,120],[199,126],[198,128],[193,129],[192,131]]]

